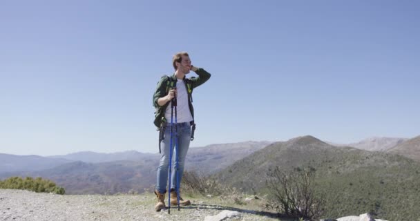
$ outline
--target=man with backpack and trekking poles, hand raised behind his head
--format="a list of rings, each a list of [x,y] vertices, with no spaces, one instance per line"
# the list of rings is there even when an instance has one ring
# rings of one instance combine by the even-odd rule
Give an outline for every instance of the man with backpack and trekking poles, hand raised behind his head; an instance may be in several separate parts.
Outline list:
[[[176,190],[180,186],[177,185],[181,183],[185,157],[187,156],[189,143],[193,140],[195,129],[192,105],[193,88],[200,86],[210,78],[210,74],[203,68],[196,68],[191,64],[187,52],[175,54],[172,59],[172,65],[175,73],[171,76],[162,77],[153,95],[153,106],[156,108],[154,123],[155,126],[160,128],[159,145],[161,152],[158,166],[158,181],[155,189],[155,194],[158,198],[158,204],[155,205],[156,211],[166,207],[164,195],[166,193],[169,170],[173,171],[169,181],[171,185],[169,186],[170,203],[178,205]],[[190,70],[195,72],[198,77],[185,77],[190,73]],[[175,106],[176,124],[173,121],[173,106]],[[192,131],[191,127],[193,127]],[[175,148],[175,142],[178,142],[178,148]],[[173,153],[174,151],[175,153]],[[175,162],[171,162],[171,169],[169,169],[169,160],[173,155],[176,156],[173,157]],[[180,197],[179,200],[182,206],[191,204],[189,200],[183,200]]]

